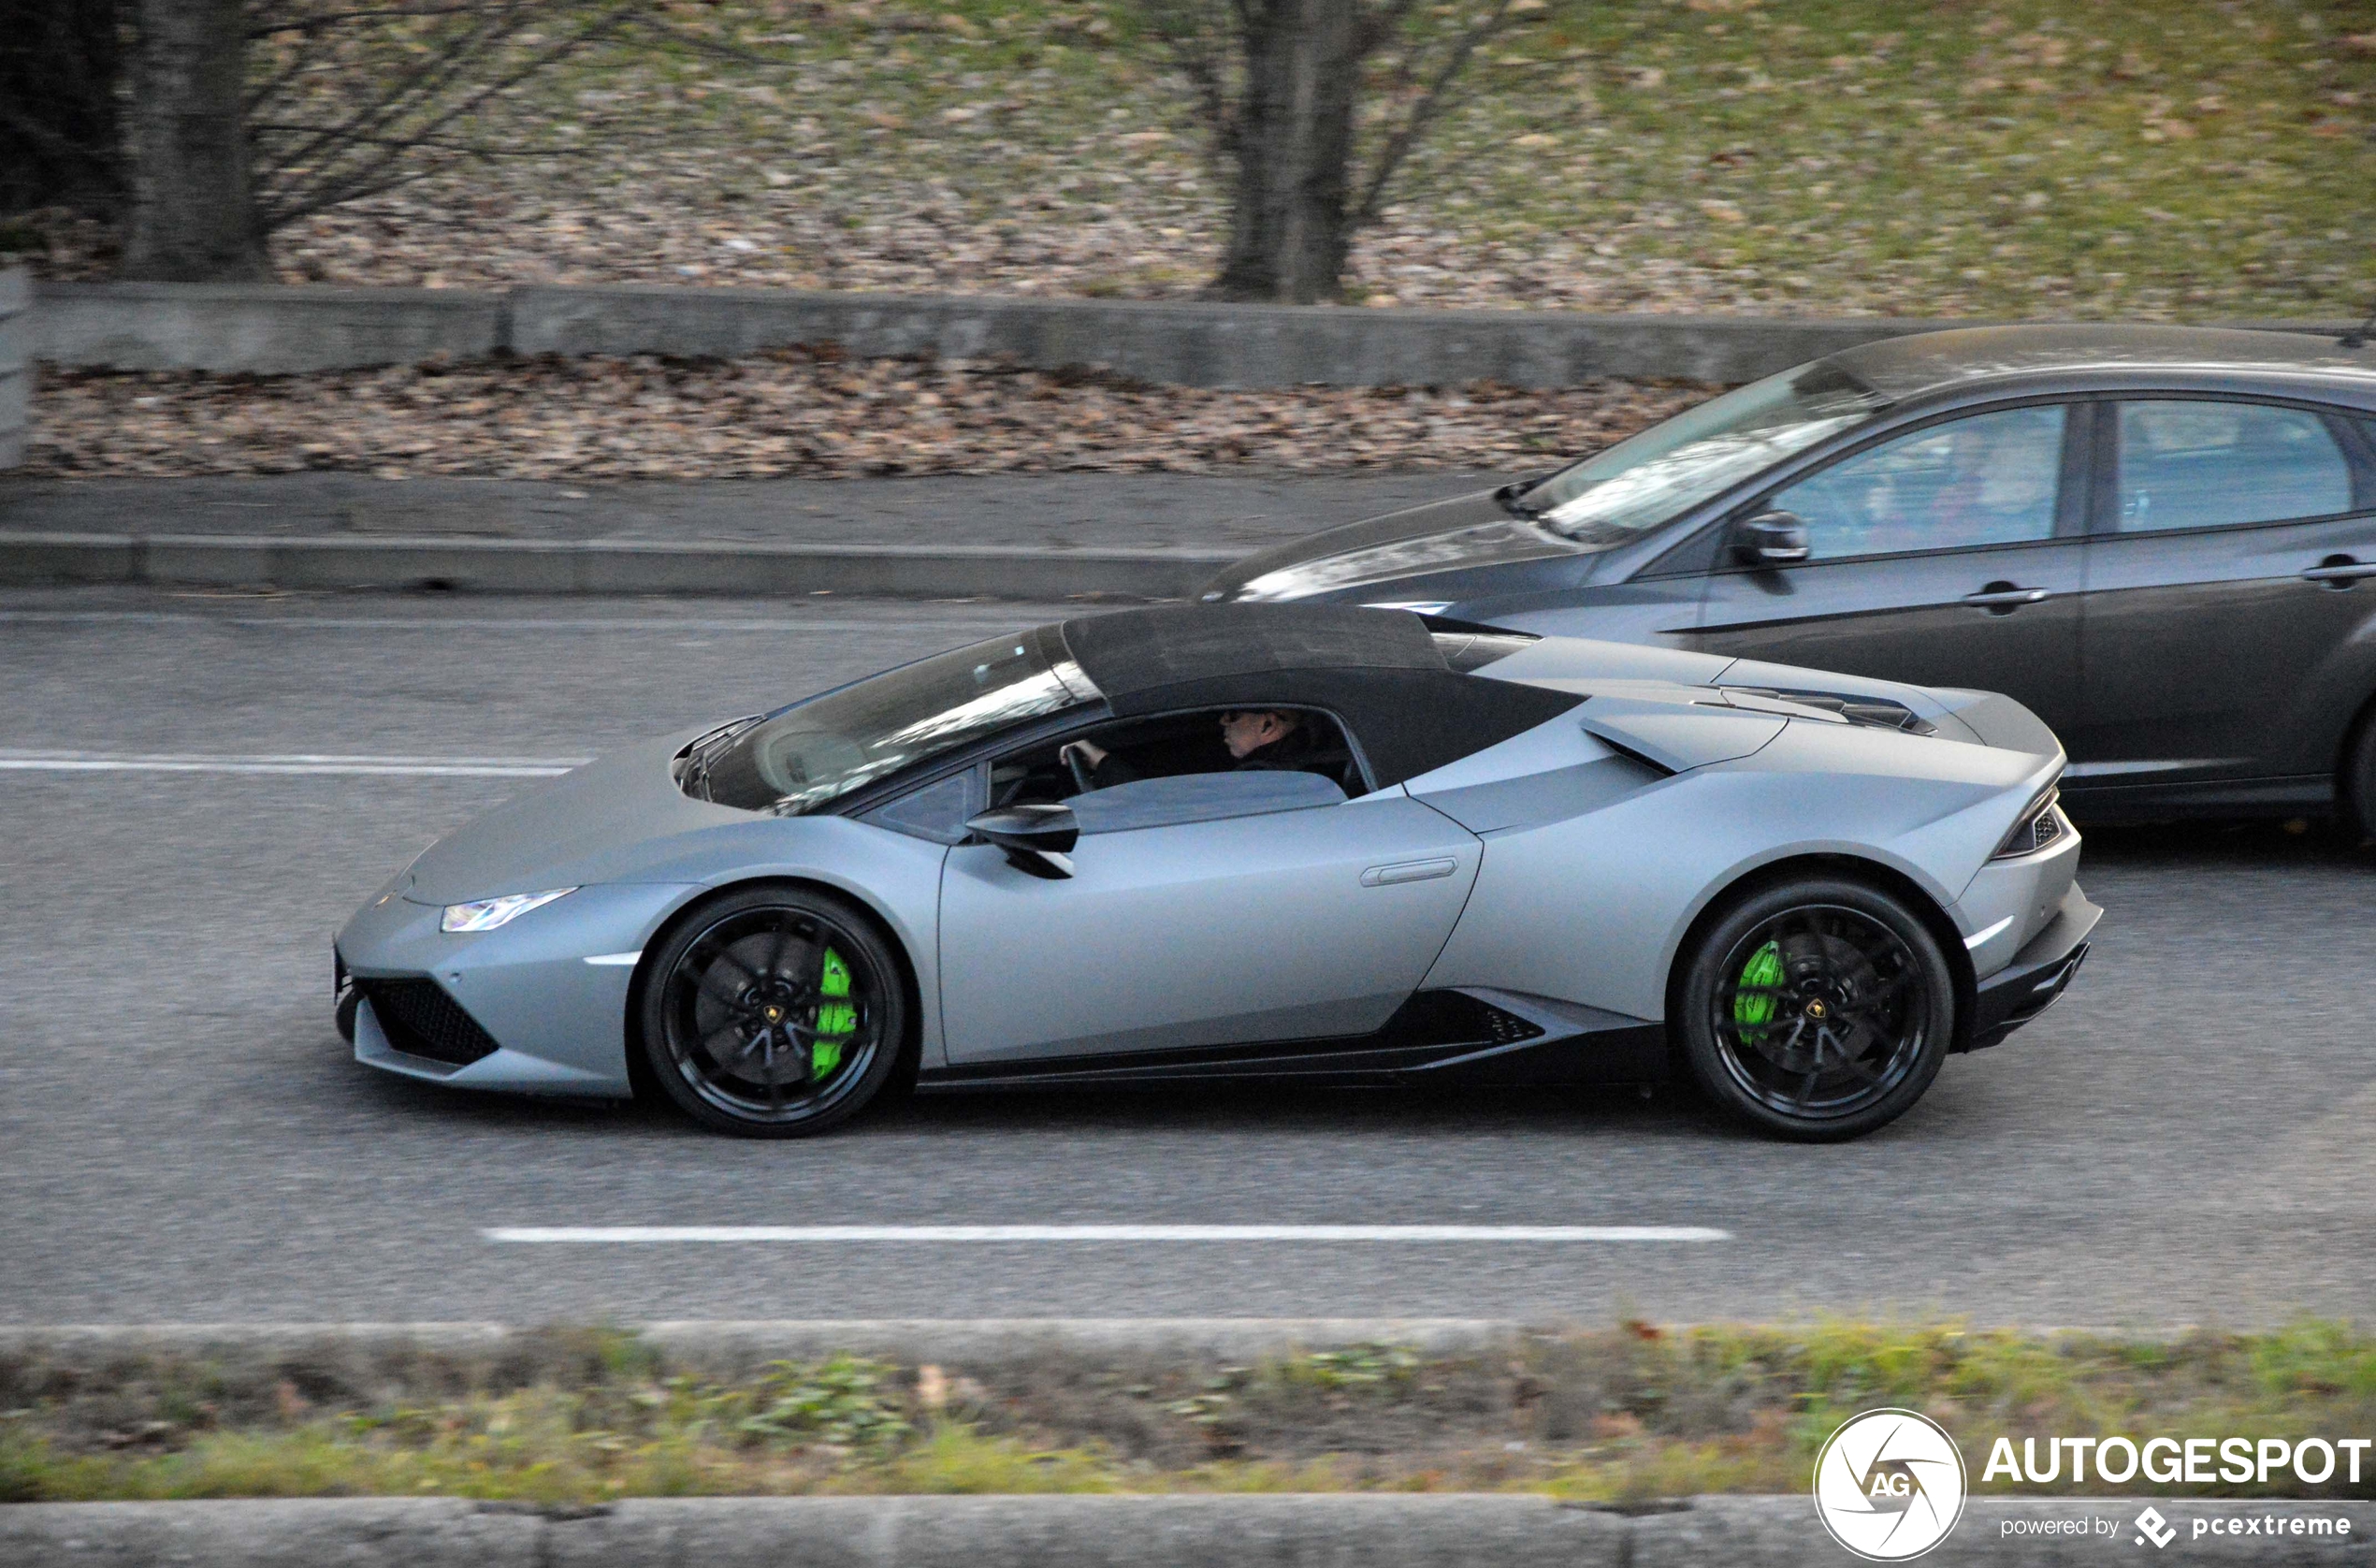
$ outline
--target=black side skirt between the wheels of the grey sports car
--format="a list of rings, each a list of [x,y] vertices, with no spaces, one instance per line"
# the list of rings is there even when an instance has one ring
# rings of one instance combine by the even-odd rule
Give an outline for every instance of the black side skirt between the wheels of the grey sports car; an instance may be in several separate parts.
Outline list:
[[[1188,1050],[1026,1057],[917,1074],[920,1093],[1057,1083],[1654,1083],[1666,1024],[1518,991],[1421,991],[1376,1033]]]

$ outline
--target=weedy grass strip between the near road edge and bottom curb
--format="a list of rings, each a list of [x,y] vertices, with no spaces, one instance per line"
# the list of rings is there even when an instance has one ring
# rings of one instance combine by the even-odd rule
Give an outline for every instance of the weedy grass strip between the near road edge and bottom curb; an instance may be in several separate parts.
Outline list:
[[[1630,1504],[1794,1492],[1851,1414],[1941,1421],[1977,1490],[1996,1437],[2357,1435],[2376,1340],[2309,1321],[2176,1340],[1955,1326],[1694,1328],[1361,1345],[1259,1364],[1041,1352],[670,1366],[630,1335],[480,1359],[0,1361],[0,1499],[1530,1490]],[[2233,1497],[2238,1487],[2203,1492]],[[2376,1471],[2257,1497],[2376,1497]]]

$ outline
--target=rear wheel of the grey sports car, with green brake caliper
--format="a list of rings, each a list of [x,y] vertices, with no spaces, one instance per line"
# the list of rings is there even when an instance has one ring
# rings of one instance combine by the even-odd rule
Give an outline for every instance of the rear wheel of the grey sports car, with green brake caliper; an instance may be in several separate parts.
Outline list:
[[[1682,1052],[1725,1112],[1837,1143],[1903,1117],[1955,1036],[1955,974],[1891,893],[1803,877],[1749,893],[1685,955]]]

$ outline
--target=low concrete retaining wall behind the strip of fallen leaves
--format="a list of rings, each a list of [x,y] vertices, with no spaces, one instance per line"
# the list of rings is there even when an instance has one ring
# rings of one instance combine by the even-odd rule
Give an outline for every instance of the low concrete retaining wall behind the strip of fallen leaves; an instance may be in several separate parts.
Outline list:
[[[832,342],[858,356],[1007,356],[1043,371],[1093,363],[1183,387],[1573,387],[1601,375],[1742,382],[1877,337],[1986,325],[549,285],[45,283],[36,304],[38,359],[119,371],[290,373],[497,352],[732,356]]]

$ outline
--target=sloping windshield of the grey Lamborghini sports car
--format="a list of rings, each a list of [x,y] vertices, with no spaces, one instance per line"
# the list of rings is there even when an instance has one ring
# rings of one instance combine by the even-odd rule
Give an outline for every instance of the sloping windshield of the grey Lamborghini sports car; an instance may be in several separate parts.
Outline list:
[[[1057,627],[993,637],[770,713],[694,753],[687,786],[744,810],[815,813],[1015,720],[1098,701]]]

